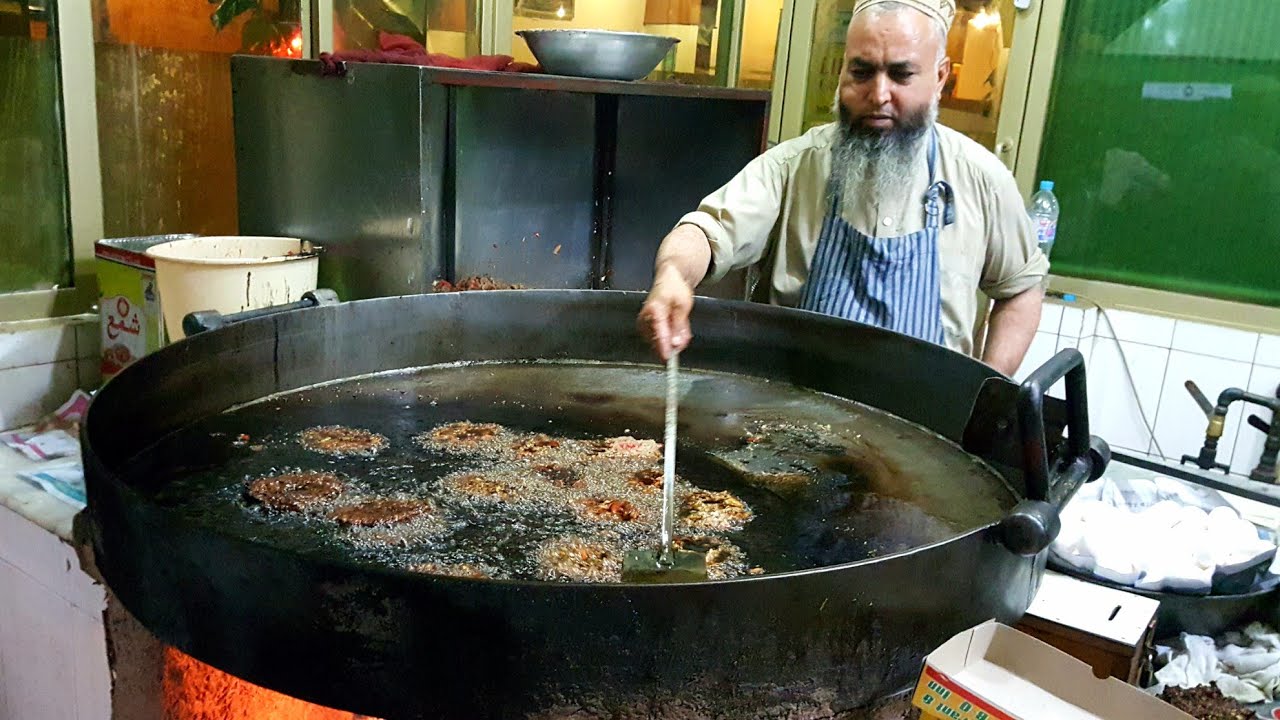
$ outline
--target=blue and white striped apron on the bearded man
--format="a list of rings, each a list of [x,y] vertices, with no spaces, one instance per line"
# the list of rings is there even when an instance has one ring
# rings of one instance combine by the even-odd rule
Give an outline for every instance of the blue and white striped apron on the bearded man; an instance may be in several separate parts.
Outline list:
[[[951,186],[936,178],[938,131],[929,136],[924,229],[870,237],[841,217],[842,188],[832,173],[831,210],[800,295],[800,307],[942,345],[938,234],[955,222]]]

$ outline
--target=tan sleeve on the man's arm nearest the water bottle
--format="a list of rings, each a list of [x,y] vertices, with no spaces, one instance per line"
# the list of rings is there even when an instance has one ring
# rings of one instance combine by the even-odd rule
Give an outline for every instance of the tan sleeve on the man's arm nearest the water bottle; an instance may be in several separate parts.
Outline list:
[[[1007,300],[1044,279],[1048,258],[1036,242],[1014,177],[1006,173],[987,184],[987,258],[979,288],[992,300]]]

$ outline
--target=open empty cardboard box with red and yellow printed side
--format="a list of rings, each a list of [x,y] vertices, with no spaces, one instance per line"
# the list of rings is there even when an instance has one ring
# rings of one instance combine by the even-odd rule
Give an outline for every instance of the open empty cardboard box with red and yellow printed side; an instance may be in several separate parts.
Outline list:
[[[936,720],[1194,720],[1000,623],[951,638],[924,660],[914,705]]]

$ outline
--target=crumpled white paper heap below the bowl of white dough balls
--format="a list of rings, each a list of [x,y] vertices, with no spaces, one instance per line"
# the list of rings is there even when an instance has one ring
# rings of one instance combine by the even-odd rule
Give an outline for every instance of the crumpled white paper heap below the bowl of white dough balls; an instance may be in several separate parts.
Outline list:
[[[1210,683],[1244,703],[1280,696],[1280,633],[1262,623],[1222,635],[1222,647],[1204,635],[1181,637],[1167,665],[1156,671],[1158,688],[1194,688]],[[1160,692],[1157,689],[1156,692]]]

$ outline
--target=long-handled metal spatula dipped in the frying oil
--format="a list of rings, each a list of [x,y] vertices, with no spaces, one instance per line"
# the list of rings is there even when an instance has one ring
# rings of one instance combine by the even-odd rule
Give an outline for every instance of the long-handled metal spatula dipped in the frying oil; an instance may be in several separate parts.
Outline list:
[[[707,556],[676,550],[676,406],[680,402],[680,356],[667,360],[667,416],[662,462],[662,537],[654,550],[632,550],[622,560],[625,583],[696,583],[707,579]]]

